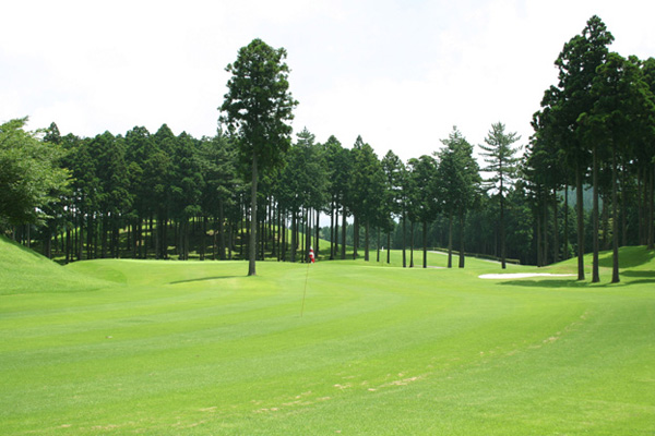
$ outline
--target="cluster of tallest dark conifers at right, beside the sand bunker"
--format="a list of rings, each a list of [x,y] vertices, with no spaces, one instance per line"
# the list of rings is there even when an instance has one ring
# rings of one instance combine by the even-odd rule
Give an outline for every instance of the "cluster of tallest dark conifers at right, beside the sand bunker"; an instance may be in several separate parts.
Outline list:
[[[583,186],[592,185],[592,281],[599,281],[598,252],[611,241],[612,282],[619,281],[619,245],[653,249],[655,172],[655,59],[642,61],[610,52],[614,36],[593,16],[569,40],[556,65],[557,85],[546,89],[533,117],[535,135],[527,153],[525,180],[537,226],[558,235],[558,193],[576,193],[577,275],[585,279]],[[600,210],[603,201],[603,210]],[[552,216],[552,220],[548,216]],[[568,229],[569,215],[564,216]],[[600,221],[603,220],[603,225]],[[564,233],[564,243],[569,243]],[[555,261],[560,240],[553,240]],[[539,263],[548,239],[538,238]]]

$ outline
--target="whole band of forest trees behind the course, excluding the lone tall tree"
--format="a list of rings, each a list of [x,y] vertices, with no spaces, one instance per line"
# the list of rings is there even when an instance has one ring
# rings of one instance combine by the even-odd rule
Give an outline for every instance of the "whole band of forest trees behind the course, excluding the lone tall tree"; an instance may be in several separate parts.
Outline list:
[[[257,257],[285,262],[306,262],[310,245],[321,258],[367,261],[402,249],[405,266],[419,266],[414,250],[428,247],[539,266],[653,247],[655,59],[610,52],[612,40],[592,17],[556,60],[559,81],[526,145],[495,123],[480,160],[456,128],[406,162],[361,137],[346,147],[303,129],[252,190],[245,138],[228,123],[213,137],[166,124],[79,137],[12,120],[0,125],[0,229],[62,262],[248,258],[254,228]],[[329,250],[318,251],[319,238]]]

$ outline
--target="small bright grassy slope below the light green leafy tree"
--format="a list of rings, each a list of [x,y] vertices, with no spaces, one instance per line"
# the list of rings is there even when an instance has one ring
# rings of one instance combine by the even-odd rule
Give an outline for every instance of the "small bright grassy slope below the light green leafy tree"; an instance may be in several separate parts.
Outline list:
[[[0,295],[87,291],[104,284],[0,235]]]

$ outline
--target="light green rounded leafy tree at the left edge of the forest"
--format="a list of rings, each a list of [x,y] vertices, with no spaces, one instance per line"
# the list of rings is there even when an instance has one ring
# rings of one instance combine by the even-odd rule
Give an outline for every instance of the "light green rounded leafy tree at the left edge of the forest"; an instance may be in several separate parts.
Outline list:
[[[0,125],[0,226],[38,222],[68,185],[61,149],[24,130],[26,118]]]

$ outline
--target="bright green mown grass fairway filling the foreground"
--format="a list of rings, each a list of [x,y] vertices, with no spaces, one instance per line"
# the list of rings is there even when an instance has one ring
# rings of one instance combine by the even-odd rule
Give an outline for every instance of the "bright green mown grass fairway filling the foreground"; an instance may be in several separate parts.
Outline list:
[[[0,240],[0,434],[653,435],[654,255],[626,249],[618,286],[475,259],[21,275]]]

